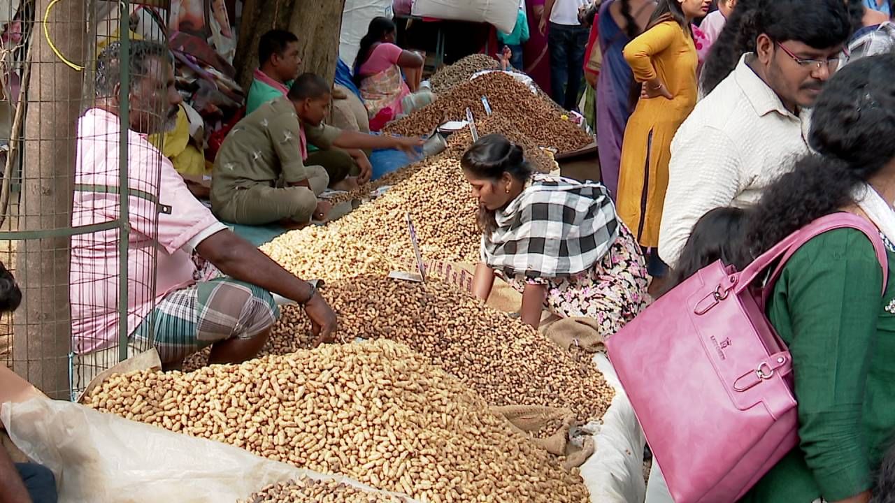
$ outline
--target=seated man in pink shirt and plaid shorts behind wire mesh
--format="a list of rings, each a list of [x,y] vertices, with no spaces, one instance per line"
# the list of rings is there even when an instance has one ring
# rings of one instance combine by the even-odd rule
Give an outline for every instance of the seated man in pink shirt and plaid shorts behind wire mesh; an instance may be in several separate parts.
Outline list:
[[[118,217],[120,52],[115,42],[99,55],[97,105],[79,120],[73,226]],[[166,47],[135,40],[129,52],[128,317],[118,317],[117,229],[73,237],[74,353],[114,348],[119,323],[127,323],[132,344],[155,345],[168,369],[208,345],[211,363],[243,362],[258,354],[277,318],[270,292],[303,305],[319,340],[331,340],[336,315],[316,288],[218,222],[147,141],[170,127],[182,99]]]

